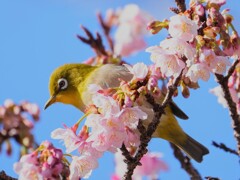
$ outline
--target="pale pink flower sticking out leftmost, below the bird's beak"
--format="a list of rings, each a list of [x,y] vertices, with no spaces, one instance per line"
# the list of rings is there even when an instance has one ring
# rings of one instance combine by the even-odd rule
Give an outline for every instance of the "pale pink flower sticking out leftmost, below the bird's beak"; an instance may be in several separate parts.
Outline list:
[[[63,140],[67,153],[74,151],[81,144],[81,138],[79,138],[75,134],[75,132],[68,127],[66,127],[65,129],[62,128],[55,129],[54,131],[52,131],[51,137],[53,139]]]

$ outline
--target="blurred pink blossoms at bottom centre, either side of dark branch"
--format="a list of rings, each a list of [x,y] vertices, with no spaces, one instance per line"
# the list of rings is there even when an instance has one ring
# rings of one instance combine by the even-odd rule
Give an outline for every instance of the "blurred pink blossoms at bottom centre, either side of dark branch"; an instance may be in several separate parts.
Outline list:
[[[149,179],[157,179],[159,172],[168,170],[168,166],[160,159],[161,157],[160,153],[145,154],[140,161],[142,165],[136,167],[132,179],[141,180],[144,176]],[[112,176],[112,180],[120,180],[124,176],[127,165],[123,160],[121,151],[115,153],[115,174]]]

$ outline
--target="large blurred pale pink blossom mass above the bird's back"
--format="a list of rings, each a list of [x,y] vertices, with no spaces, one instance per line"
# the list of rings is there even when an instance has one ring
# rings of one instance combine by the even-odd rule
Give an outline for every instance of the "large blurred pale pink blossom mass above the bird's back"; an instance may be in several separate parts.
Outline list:
[[[129,56],[144,49],[146,43],[143,36],[147,30],[142,27],[146,26],[151,19],[137,5],[126,5],[119,15],[119,26],[115,34],[115,54]]]

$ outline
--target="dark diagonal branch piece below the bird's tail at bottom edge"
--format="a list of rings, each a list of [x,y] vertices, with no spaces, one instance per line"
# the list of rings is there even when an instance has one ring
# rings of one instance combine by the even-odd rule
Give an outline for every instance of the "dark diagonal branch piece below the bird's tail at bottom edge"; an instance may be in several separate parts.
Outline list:
[[[193,167],[189,157],[185,156],[174,144],[170,143],[170,145],[173,149],[174,156],[179,160],[181,167],[189,174],[190,178],[194,180],[201,180],[202,177],[200,173]]]

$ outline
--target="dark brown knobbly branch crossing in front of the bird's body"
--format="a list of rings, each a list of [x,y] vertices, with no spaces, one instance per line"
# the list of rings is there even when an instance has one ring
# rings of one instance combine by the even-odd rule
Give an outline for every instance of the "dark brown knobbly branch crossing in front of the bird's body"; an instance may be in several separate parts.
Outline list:
[[[138,130],[141,133],[140,135],[140,145],[138,148],[138,151],[134,157],[129,157],[129,152],[127,153],[127,149],[125,146],[122,146],[121,150],[123,152],[123,155],[125,157],[125,162],[127,163],[127,172],[124,175],[125,180],[130,180],[134,169],[140,165],[140,160],[144,156],[144,154],[147,153],[147,146],[149,141],[151,140],[152,134],[157,129],[157,126],[160,123],[161,116],[164,114],[164,109],[168,105],[168,103],[171,101],[172,96],[175,92],[175,90],[178,87],[179,81],[181,80],[182,73],[178,76],[178,78],[175,80],[174,84],[168,87],[168,92],[162,102],[161,105],[157,104],[150,94],[146,94],[147,101],[153,106],[154,111],[154,118],[152,122],[148,125],[147,129],[143,126],[142,122],[139,121],[138,124]]]

